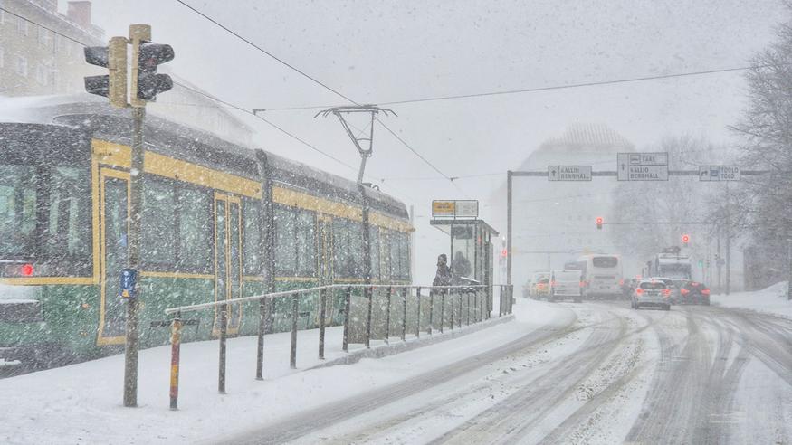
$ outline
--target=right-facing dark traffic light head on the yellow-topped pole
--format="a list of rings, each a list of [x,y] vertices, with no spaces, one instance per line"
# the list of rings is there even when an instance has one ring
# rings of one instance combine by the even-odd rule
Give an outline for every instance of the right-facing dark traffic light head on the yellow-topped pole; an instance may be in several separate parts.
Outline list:
[[[134,98],[155,100],[157,93],[173,88],[173,80],[170,79],[170,76],[157,74],[157,65],[173,60],[173,47],[167,44],[140,41],[137,55],[137,64],[132,67]]]

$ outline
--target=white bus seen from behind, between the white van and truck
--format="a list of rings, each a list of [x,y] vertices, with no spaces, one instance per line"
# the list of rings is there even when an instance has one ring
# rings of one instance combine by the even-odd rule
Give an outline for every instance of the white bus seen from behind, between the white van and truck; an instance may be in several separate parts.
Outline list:
[[[622,259],[619,255],[593,253],[577,259],[584,298],[614,298],[624,295]]]

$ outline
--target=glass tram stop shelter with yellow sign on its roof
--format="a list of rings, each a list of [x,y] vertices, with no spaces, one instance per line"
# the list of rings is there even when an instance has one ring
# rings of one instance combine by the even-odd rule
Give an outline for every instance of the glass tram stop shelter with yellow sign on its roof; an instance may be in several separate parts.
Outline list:
[[[433,201],[430,224],[448,234],[451,241],[448,265],[453,273],[453,284],[488,286],[491,308],[492,240],[497,240],[498,232],[478,216],[478,201]]]

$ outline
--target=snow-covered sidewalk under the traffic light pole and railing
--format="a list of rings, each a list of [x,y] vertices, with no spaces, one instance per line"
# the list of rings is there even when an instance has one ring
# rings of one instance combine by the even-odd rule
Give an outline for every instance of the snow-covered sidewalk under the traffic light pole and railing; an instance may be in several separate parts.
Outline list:
[[[318,333],[301,331],[297,371],[289,367],[290,335],[265,337],[264,377],[256,381],[255,337],[228,342],[227,393],[217,393],[217,342],[182,346],[179,410],[168,409],[170,347],[141,351],[138,408],[121,405],[123,355],[0,380],[2,443],[157,443],[220,441],[294,412],[495,348],[539,327],[562,325],[574,313],[520,299],[516,321],[356,365],[320,364]],[[448,332],[448,331],[446,331]],[[395,341],[397,341],[395,339]],[[350,351],[354,347],[350,346]],[[327,332],[328,360],[344,355],[341,331]],[[301,371],[302,370],[302,371]]]

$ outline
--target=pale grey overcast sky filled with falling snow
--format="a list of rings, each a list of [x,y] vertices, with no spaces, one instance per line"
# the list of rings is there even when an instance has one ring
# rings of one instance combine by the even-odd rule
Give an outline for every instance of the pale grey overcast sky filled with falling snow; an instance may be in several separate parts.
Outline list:
[[[789,16],[778,0],[186,3],[361,103],[746,66]],[[176,0],[93,4],[93,21],[108,36],[151,24],[153,39],[175,49],[173,71],[218,98],[251,109],[347,103]],[[543,140],[576,122],[604,123],[638,149],[680,134],[736,144],[726,126],[740,118],[745,89],[743,74],[729,72],[393,105],[398,117],[384,120],[444,175],[489,174],[520,166]],[[167,93],[159,99],[167,101]],[[357,166],[339,122],[314,118],[318,110],[265,116]],[[356,177],[262,121],[243,118],[262,147]],[[420,215],[433,198],[485,200],[505,178],[463,178],[453,186],[378,127],[374,150],[367,173],[388,178],[383,190],[415,204]]]

